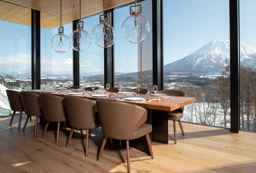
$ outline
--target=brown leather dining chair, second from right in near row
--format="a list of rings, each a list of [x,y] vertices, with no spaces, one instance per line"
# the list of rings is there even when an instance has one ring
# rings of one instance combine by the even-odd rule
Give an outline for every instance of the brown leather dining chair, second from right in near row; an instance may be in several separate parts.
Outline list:
[[[85,156],[88,156],[89,136],[91,138],[91,135],[89,134],[91,134],[91,129],[101,126],[96,102],[90,99],[75,97],[71,95],[65,95],[64,100],[69,122],[72,126],[66,147],[69,146],[75,128],[80,129],[82,137],[83,129],[86,129]]]

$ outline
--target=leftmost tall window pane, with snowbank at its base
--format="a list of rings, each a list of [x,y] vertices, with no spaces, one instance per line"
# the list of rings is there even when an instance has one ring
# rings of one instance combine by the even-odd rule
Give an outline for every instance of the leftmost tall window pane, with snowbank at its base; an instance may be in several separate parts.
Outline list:
[[[0,6],[0,116],[8,116],[6,90],[31,90],[31,10],[2,1]]]

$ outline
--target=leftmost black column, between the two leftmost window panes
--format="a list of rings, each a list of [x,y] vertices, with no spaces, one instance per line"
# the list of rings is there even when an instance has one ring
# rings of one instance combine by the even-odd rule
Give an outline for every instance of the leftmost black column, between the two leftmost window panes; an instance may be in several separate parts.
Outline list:
[[[40,89],[40,11],[31,9],[32,90]]]

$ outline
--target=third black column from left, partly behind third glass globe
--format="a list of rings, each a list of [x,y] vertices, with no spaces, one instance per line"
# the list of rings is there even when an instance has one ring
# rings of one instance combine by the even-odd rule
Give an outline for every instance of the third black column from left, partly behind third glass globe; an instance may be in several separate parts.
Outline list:
[[[106,11],[108,14],[108,23],[114,27],[114,10]],[[108,48],[104,48],[104,87],[106,83],[110,87],[114,87],[114,44]]]

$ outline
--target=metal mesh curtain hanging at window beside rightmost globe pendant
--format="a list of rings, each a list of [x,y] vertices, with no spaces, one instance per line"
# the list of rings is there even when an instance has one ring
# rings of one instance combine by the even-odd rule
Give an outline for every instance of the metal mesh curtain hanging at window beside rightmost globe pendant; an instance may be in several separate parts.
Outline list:
[[[152,93],[152,1],[145,0],[139,3],[142,5],[141,15],[149,22],[150,34],[146,40],[138,44],[138,83],[141,83],[142,88],[148,88]]]

